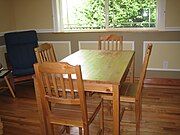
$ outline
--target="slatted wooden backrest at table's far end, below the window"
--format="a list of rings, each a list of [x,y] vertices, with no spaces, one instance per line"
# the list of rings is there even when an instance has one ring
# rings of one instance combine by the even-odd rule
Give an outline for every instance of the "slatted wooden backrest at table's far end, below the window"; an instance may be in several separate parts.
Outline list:
[[[119,35],[104,35],[99,37],[99,50],[122,50],[123,36]]]

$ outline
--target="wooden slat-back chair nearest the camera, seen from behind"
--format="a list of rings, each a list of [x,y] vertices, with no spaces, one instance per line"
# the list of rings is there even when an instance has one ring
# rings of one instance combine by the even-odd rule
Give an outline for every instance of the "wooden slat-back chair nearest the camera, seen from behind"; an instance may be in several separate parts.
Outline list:
[[[96,100],[96,105],[86,100],[79,65],[44,62],[34,64],[34,69],[48,134],[53,134],[53,124],[60,124],[83,128],[88,135],[89,125],[98,112],[101,114],[99,133],[103,133],[103,100]]]

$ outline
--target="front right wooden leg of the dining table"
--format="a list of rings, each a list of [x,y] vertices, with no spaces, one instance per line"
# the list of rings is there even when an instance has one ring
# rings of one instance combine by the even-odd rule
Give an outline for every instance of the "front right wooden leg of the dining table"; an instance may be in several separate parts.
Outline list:
[[[113,85],[113,135],[120,134],[120,92],[119,86]]]

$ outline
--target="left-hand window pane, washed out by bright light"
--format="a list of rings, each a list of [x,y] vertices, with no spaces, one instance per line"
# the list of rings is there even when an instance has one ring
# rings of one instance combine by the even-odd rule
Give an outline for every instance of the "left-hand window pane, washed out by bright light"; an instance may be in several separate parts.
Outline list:
[[[104,0],[62,0],[64,29],[105,27]]]

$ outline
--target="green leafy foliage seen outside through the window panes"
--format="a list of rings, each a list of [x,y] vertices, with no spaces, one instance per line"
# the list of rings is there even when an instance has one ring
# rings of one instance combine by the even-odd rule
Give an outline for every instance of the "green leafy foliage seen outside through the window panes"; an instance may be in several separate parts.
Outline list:
[[[155,27],[157,0],[109,0],[108,27]],[[105,0],[87,0],[76,9],[77,27],[103,29],[106,27]]]

